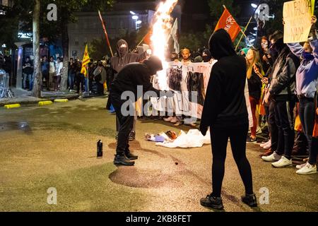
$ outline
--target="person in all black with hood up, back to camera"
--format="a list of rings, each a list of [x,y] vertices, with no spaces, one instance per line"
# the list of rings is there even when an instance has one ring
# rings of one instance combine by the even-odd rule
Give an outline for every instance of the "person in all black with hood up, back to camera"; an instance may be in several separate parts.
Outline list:
[[[205,136],[208,127],[211,131],[213,154],[212,187],[213,192],[201,198],[201,205],[223,209],[220,196],[225,170],[228,138],[232,154],[245,185],[242,201],[256,207],[257,198],[253,193],[252,169],[246,157],[246,139],[249,129],[245,84],[247,64],[244,57],[237,56],[230,35],[223,29],[213,33],[209,41],[214,64],[206,91],[200,130]]]

